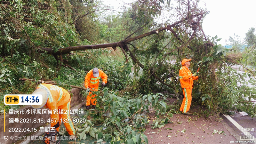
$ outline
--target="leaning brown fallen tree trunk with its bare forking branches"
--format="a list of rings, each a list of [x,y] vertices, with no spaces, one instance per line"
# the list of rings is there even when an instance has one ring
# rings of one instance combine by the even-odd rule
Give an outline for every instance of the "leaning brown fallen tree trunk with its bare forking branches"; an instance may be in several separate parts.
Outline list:
[[[183,2],[185,2],[185,1],[183,1]],[[178,51],[178,50],[180,50],[181,48],[184,48],[184,47],[187,47],[188,49],[193,51],[194,48],[192,48],[189,43],[192,40],[197,39],[198,35],[204,36],[205,44],[203,45],[204,46],[203,49],[206,51],[205,53],[207,53],[207,48],[209,49],[209,47],[213,46],[211,41],[208,40],[207,37],[204,35],[204,31],[203,31],[202,26],[201,26],[202,19],[203,19],[204,15],[207,13],[207,11],[197,9],[197,3],[193,2],[193,1],[189,1],[189,0],[187,1],[186,6],[187,7],[185,8],[185,10],[187,9],[187,12],[184,12],[184,13],[186,13],[185,14],[186,16],[181,17],[179,21],[173,22],[172,24],[166,25],[165,27],[161,27],[161,28],[158,28],[156,30],[152,30],[150,32],[144,33],[140,36],[136,36],[136,37],[132,37],[132,38],[128,38],[129,37],[128,36],[123,41],[119,41],[119,42],[115,42],[115,43],[71,46],[71,47],[66,47],[66,48],[63,48],[63,49],[58,49],[57,51],[55,51],[52,48],[41,48],[41,49],[38,49],[38,52],[54,55],[55,59],[57,60],[57,64],[58,64],[58,60],[60,60],[60,65],[61,65],[62,62],[63,62],[62,55],[63,54],[69,54],[72,51],[92,50],[92,49],[101,49],[101,48],[108,48],[108,47],[112,47],[114,50],[116,50],[116,47],[120,47],[122,52],[124,53],[124,55],[126,57],[126,62],[128,60],[127,55],[129,55],[131,57],[131,59],[136,63],[136,65],[138,65],[138,66],[140,66],[141,68],[144,69],[145,66],[136,58],[136,56],[129,49],[127,44],[130,44],[133,41],[140,40],[140,39],[145,38],[147,36],[159,35],[160,33],[163,33],[164,31],[169,30],[172,33],[172,37],[173,37],[173,39],[175,39],[176,43],[179,43],[179,46],[177,46],[176,49],[173,49],[170,52],[166,53],[163,56],[164,58],[167,55],[169,55],[170,53],[172,53],[174,51]],[[174,31],[174,29],[176,31]],[[181,38],[182,34],[179,35],[179,34],[177,34],[177,32],[179,32],[179,33],[186,32],[187,33],[186,38],[183,40]],[[199,51],[200,51],[199,49],[196,50],[197,53],[199,53]],[[176,88],[174,86],[172,86],[171,84],[165,83],[162,80],[163,78],[161,78],[161,76],[157,76],[157,74],[155,73],[154,68],[148,68],[148,70],[149,70],[150,74],[155,79],[157,79],[160,83],[162,83],[162,84],[164,84],[168,87],[171,87],[176,91]],[[182,92],[178,92],[178,93],[183,95]]]

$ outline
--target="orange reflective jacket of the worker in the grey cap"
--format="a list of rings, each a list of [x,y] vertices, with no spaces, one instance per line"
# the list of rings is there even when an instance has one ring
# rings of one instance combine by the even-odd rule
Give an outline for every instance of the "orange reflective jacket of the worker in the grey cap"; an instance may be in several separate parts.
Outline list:
[[[99,77],[94,77],[92,70],[90,70],[84,78],[84,87],[89,87],[91,89],[94,88],[94,90],[96,91],[99,87],[100,77],[102,78],[102,82],[107,84],[108,76],[102,70],[99,69]]]

